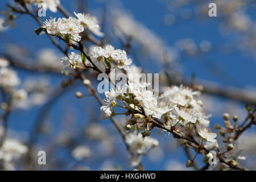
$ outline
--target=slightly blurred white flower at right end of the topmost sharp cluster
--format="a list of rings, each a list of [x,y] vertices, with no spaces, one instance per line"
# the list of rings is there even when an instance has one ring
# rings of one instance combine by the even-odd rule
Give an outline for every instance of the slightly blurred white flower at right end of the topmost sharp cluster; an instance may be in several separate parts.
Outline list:
[[[100,31],[100,26],[98,26],[98,20],[96,17],[90,16],[90,14],[86,15],[84,13],[76,14],[74,12],[74,14],[77,16],[77,18],[79,19],[82,26],[84,26],[84,28],[88,28],[95,35],[104,36],[104,33]]]

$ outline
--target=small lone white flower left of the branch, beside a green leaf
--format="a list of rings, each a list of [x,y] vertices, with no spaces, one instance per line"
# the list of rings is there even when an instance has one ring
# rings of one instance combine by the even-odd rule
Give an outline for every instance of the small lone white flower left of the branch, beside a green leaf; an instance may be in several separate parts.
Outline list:
[[[69,57],[62,57],[60,62],[64,64],[62,73],[68,71],[69,68],[76,69],[76,65],[79,61],[82,61],[81,56],[77,55],[75,52],[71,52]]]

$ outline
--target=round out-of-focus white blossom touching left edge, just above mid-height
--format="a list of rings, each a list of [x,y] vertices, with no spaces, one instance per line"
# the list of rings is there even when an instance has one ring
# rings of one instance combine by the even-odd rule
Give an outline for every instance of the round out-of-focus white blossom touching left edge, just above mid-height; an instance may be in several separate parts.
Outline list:
[[[5,89],[10,89],[17,85],[19,85],[17,73],[9,68],[0,68],[0,86]]]

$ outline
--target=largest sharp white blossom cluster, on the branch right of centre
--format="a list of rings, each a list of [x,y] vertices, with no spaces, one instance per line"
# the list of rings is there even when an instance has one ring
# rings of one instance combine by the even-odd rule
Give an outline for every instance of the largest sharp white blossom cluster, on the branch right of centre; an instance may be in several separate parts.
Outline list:
[[[172,86],[164,89],[159,98],[155,98],[153,92],[147,89],[148,85],[149,83],[139,80],[128,81],[126,87],[116,87],[105,92],[106,99],[101,107],[102,119],[117,114],[130,115],[126,128],[143,130],[142,137],[150,135],[150,130],[154,127],[150,123],[151,119],[158,119],[167,129],[198,138],[200,143],[204,142],[208,150],[218,148],[215,139],[217,134],[208,129],[209,116],[204,114],[203,103],[194,98],[200,92],[193,92],[183,85]],[[127,111],[118,113],[116,107],[122,107]],[[184,140],[177,142],[184,144]]]

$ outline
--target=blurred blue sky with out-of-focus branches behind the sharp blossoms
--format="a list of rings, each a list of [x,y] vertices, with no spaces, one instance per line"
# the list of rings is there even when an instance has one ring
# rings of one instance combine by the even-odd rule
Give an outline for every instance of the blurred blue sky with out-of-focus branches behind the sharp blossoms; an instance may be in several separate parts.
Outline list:
[[[253,0],[152,0],[105,1],[61,0],[72,14],[85,12],[97,16],[106,43],[115,48],[130,48],[133,64],[146,73],[160,73],[160,90],[172,84],[202,89],[199,97],[205,113],[212,114],[212,131],[222,125],[223,113],[237,115],[243,122],[245,104],[256,105],[256,2]],[[217,4],[217,17],[209,17],[209,3]],[[7,10],[3,0],[0,10]],[[64,17],[59,11],[46,17]],[[2,21],[3,16],[0,15]],[[15,19],[16,28],[0,27],[0,57],[6,57],[20,78],[20,89],[28,101],[11,111],[8,136],[28,144],[29,159],[16,169],[132,169],[125,144],[113,124],[100,120],[100,104],[77,80],[65,89],[61,83],[62,53],[46,35],[37,36],[38,24],[28,15]],[[101,41],[100,37],[95,38]],[[59,42],[59,41],[58,41]],[[61,43],[61,46],[65,46]],[[92,44],[85,40],[86,48]],[[88,77],[95,79],[93,73]],[[97,81],[92,82],[97,88]],[[86,95],[76,98],[76,92]],[[104,95],[101,95],[102,99]],[[117,117],[125,125],[126,119]],[[175,139],[154,130],[159,146],[143,156],[146,170],[187,170],[188,157]],[[218,136],[219,137],[219,136]],[[238,140],[242,164],[256,169],[255,127]],[[221,146],[221,143],[219,143]],[[84,147],[84,156],[74,150]],[[46,151],[47,165],[37,164],[38,151]],[[201,157],[198,157],[199,165]],[[11,167],[13,167],[11,166]],[[10,167],[10,169],[11,169]]]

